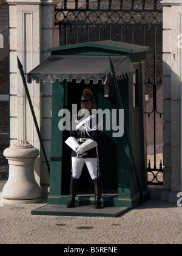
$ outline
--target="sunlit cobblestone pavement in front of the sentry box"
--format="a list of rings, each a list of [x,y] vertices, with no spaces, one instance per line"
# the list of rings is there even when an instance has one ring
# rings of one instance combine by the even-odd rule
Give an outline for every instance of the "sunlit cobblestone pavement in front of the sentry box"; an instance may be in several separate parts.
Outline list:
[[[44,203],[0,207],[0,244],[182,243],[175,204],[151,200],[118,218],[31,215]]]

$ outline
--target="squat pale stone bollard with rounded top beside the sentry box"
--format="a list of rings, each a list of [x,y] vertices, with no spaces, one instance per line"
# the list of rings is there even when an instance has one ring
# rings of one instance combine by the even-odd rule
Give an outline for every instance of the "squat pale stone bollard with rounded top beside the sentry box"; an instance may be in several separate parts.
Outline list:
[[[19,140],[3,152],[8,159],[9,176],[2,190],[5,204],[31,204],[41,201],[41,188],[34,176],[34,163],[39,150]]]

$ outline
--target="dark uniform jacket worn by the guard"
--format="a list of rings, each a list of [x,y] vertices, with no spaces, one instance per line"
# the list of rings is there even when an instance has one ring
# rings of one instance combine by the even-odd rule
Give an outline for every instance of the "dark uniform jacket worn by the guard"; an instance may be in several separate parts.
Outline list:
[[[72,119],[72,123],[71,123],[71,127],[70,127],[70,136],[71,137],[75,137],[75,138],[79,138],[81,140],[84,140],[84,138],[86,139],[91,139],[91,140],[94,140],[96,142],[98,142],[99,140],[99,137],[101,135],[101,132],[102,130],[100,130],[99,127],[96,127],[94,130],[84,130],[84,124],[79,127],[78,130],[76,130],[76,125],[79,124],[79,122],[81,122],[83,120],[83,116],[73,116],[73,119]],[[90,119],[90,122],[89,122],[89,127],[92,129],[93,126],[97,125],[98,126],[99,124],[99,119],[98,119],[98,115],[94,115],[93,118]],[[73,129],[74,128],[74,129]],[[83,142],[80,141],[79,144],[82,144]],[[89,151],[86,151],[87,155],[84,155],[83,157],[84,158],[89,158],[89,157],[97,157],[97,154],[96,154],[96,148],[92,148],[90,149]],[[76,152],[72,150],[72,157],[76,157]]]

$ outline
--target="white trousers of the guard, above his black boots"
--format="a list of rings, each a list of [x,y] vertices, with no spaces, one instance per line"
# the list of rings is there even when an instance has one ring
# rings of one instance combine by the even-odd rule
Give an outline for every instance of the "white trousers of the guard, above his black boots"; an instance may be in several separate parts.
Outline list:
[[[90,177],[95,180],[99,177],[97,157],[92,158],[82,158],[82,157],[72,157],[72,176],[75,179],[79,179],[81,172],[83,170],[84,163],[87,166]]]

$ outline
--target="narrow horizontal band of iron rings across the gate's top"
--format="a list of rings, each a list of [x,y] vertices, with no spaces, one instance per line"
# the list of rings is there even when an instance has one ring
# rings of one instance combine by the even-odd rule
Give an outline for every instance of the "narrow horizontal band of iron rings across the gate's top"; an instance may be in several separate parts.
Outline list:
[[[128,26],[129,24],[140,24],[140,26],[161,26],[163,19],[161,12],[152,12],[151,10],[144,10],[142,12],[128,12],[128,10],[84,10],[80,9],[78,12],[70,9],[67,12],[62,9],[55,10],[55,24],[61,25],[80,25],[83,26],[101,26],[107,24],[110,26]]]

